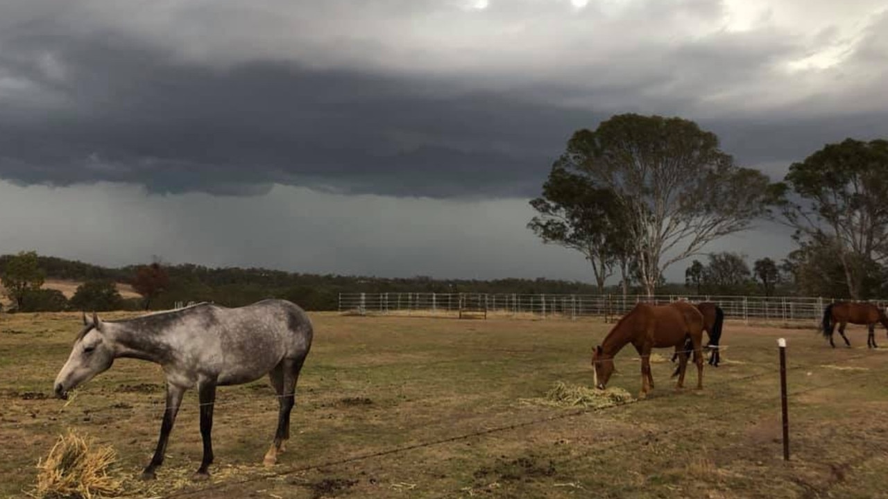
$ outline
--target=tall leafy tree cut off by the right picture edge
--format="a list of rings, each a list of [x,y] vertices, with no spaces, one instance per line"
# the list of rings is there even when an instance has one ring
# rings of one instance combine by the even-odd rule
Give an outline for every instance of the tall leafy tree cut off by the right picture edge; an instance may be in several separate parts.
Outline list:
[[[866,297],[868,269],[888,260],[888,140],[845,139],[793,163],[772,193],[797,239],[835,250],[844,284]]]

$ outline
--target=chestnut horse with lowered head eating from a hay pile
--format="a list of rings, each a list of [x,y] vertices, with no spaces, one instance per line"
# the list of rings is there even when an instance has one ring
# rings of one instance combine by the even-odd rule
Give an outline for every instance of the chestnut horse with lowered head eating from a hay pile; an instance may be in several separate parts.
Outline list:
[[[622,347],[632,344],[641,357],[641,392],[644,398],[654,388],[651,376],[651,350],[674,347],[678,353],[678,384],[685,384],[687,352],[685,340],[690,338],[694,346],[697,364],[697,389],[703,387],[703,315],[697,307],[687,302],[670,305],[648,305],[639,303],[614,325],[601,345],[592,352],[592,367],[595,369],[595,385],[604,389],[614,373],[614,355]]]

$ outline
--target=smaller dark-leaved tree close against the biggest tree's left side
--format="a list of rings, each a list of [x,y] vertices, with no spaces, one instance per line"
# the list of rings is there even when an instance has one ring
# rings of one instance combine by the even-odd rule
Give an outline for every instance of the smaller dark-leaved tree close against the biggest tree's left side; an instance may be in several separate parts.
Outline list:
[[[527,227],[543,242],[582,253],[591,264],[599,293],[604,292],[614,264],[621,264],[626,289],[624,262],[630,245],[622,230],[625,217],[620,203],[612,191],[596,186],[572,166],[561,160],[552,166],[543,195],[530,202],[539,214]]]

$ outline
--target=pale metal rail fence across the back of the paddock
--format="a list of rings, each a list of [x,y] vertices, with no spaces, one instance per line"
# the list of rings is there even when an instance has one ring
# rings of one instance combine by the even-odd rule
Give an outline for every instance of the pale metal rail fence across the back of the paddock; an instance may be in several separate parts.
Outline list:
[[[725,311],[725,319],[749,323],[817,324],[823,309],[833,302],[826,297],[752,297],[711,295],[522,295],[515,293],[340,293],[339,312],[359,315],[407,314],[419,316],[532,318],[604,317],[613,319],[639,302],[654,305],[678,300],[713,302]],[[870,300],[884,308],[885,300]]]

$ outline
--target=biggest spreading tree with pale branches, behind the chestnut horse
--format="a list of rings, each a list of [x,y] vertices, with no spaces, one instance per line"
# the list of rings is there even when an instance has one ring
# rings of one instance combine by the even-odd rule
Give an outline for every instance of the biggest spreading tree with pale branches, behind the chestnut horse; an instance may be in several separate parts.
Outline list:
[[[715,134],[681,118],[615,115],[576,131],[562,161],[614,192],[649,296],[670,265],[765,212],[767,177],[736,166]]]

